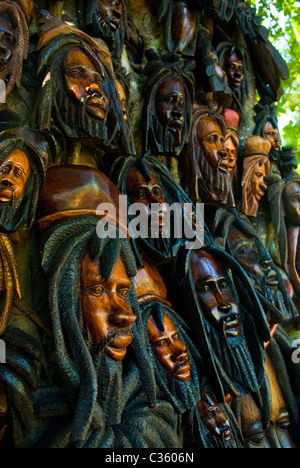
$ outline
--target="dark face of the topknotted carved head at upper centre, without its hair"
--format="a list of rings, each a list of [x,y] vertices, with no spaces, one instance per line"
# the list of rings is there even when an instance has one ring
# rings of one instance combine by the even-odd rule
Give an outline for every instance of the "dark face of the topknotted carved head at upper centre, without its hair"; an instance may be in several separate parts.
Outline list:
[[[174,135],[175,146],[181,144],[184,127],[185,93],[184,87],[176,77],[164,81],[156,98],[156,112],[161,125]]]

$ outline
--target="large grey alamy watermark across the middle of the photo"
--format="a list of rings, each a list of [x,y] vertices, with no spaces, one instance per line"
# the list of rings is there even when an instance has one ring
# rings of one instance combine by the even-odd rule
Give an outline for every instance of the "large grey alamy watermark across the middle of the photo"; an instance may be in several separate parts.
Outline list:
[[[204,205],[198,203],[134,203],[119,196],[118,212],[112,203],[98,206],[97,235],[100,239],[184,239],[187,249],[204,245]]]

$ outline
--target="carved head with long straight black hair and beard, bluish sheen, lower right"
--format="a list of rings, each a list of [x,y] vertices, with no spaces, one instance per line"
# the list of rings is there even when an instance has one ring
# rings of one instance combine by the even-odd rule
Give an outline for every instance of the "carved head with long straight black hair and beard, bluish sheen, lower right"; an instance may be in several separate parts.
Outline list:
[[[242,268],[212,245],[199,251],[182,250],[177,276],[176,308],[190,327],[204,365],[209,366],[214,391],[221,392],[217,398],[222,398],[222,393],[224,398],[224,392],[240,396],[258,391],[264,377],[264,341],[269,340],[270,332]],[[245,302],[246,297],[249,300]]]

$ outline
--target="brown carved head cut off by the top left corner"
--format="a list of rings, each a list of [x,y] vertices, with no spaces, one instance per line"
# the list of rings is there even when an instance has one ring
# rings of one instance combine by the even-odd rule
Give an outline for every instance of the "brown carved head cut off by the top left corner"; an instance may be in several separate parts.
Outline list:
[[[0,4],[0,79],[7,79],[7,95],[21,85],[23,60],[29,49],[32,0],[2,1]]]

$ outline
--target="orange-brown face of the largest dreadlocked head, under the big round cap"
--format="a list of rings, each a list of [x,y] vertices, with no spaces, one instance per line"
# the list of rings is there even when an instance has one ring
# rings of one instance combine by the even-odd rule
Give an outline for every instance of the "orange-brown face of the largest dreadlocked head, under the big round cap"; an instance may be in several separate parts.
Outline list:
[[[105,353],[122,361],[132,342],[131,326],[136,320],[126,297],[131,282],[119,258],[108,281],[101,276],[99,261],[86,254],[81,264],[82,314],[88,333]]]

